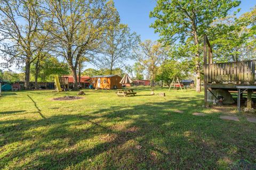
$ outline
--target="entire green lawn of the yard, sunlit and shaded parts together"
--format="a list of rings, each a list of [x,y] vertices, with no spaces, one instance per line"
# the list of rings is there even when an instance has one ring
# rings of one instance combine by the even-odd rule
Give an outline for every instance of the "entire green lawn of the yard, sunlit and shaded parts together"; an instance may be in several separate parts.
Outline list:
[[[137,89],[3,92],[0,169],[230,169],[256,167],[256,124],[231,108],[203,108],[203,93]],[[175,110],[184,113],[175,113]],[[194,112],[206,116],[195,116]],[[221,120],[236,114],[239,122]]]

